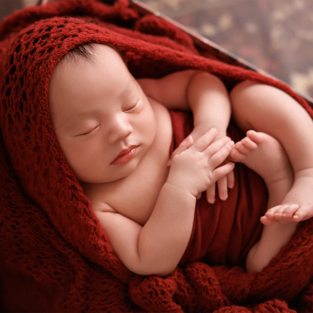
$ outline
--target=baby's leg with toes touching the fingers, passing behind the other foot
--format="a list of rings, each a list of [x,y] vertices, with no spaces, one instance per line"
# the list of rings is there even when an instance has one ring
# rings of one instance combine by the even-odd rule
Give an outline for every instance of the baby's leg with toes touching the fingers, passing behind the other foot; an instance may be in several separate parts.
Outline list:
[[[247,137],[235,144],[230,157],[232,161],[244,163],[264,179],[269,193],[268,208],[280,203],[293,184],[288,157],[272,136],[250,130]],[[297,205],[289,206],[290,210],[297,208]],[[259,272],[268,265],[291,238],[296,225],[295,222],[265,225],[260,240],[247,256],[247,272]]]

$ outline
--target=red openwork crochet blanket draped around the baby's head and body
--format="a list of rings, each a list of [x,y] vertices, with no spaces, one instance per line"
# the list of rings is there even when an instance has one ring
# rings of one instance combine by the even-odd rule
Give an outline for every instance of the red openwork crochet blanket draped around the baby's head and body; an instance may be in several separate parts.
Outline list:
[[[4,311],[312,312],[312,220],[261,273],[202,262],[167,277],[128,271],[65,162],[48,106],[52,70],[78,44],[118,47],[136,77],[198,68],[230,89],[251,79],[290,88],[198,51],[192,39],[127,1],[57,1],[0,24],[0,279]]]

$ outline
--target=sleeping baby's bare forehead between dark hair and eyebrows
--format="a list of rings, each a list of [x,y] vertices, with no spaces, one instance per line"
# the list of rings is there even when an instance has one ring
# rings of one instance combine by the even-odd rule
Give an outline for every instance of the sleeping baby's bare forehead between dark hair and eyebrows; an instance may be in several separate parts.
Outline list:
[[[101,102],[114,102],[136,86],[121,56],[114,49],[95,44],[92,61],[63,59],[53,70],[49,85],[51,115],[86,110]]]

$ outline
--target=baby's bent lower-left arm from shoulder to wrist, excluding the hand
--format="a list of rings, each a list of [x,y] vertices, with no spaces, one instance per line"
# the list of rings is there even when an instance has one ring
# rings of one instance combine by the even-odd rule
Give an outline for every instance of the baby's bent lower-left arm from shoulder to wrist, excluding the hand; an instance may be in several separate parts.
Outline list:
[[[101,227],[122,263],[140,275],[168,275],[190,238],[196,198],[166,182],[144,226],[119,213],[97,210]],[[145,205],[142,203],[142,205]]]

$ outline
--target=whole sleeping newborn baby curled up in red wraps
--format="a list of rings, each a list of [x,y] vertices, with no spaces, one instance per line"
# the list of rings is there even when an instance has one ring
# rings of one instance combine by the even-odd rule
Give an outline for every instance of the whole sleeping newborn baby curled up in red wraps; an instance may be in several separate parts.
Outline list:
[[[191,235],[196,199],[206,191],[214,203],[217,182],[226,200],[233,162],[257,172],[269,193],[248,272],[261,271],[295,222],[313,216],[313,122],[274,87],[244,81],[228,95],[220,79],[193,69],[135,80],[115,49],[89,44],[55,67],[49,105],[69,166],[116,254],[135,273],[172,272]],[[171,158],[169,109],[191,110],[194,119]],[[226,136],[231,112],[247,131],[236,144]]]

